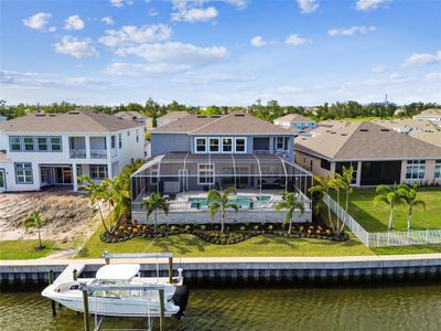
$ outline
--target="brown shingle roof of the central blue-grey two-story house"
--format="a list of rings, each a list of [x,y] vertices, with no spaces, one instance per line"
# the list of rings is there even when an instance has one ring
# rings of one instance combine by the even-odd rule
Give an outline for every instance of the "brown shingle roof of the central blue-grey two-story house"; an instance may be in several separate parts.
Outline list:
[[[189,115],[152,132],[186,132],[189,135],[293,135],[289,129],[243,111],[228,115]]]

